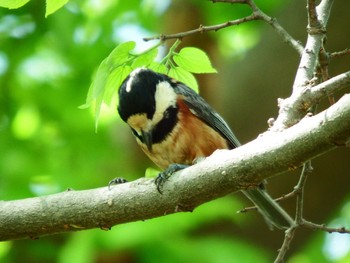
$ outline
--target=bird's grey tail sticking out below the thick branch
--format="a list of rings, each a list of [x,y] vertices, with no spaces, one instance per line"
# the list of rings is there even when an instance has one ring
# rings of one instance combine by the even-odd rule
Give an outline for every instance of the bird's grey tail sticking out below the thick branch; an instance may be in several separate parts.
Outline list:
[[[288,229],[294,224],[293,219],[264,189],[255,188],[242,192],[256,205],[269,225]]]

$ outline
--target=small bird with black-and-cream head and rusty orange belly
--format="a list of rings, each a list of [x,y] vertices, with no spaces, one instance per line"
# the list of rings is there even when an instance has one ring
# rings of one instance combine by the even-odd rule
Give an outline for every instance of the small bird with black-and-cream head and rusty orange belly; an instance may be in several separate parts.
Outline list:
[[[155,180],[159,192],[167,176],[175,171],[217,149],[240,146],[224,119],[200,95],[184,83],[150,69],[137,68],[123,81],[118,112],[145,154],[165,170]],[[120,182],[124,181],[111,181]],[[243,193],[270,225],[287,229],[293,224],[263,187]]]

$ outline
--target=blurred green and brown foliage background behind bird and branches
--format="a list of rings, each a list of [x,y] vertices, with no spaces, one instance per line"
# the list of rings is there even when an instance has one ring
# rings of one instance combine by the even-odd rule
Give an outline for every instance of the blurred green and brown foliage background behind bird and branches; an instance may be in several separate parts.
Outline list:
[[[298,40],[305,41],[304,1],[257,1]],[[335,3],[329,51],[350,46],[350,3]],[[0,9],[0,200],[104,187],[152,166],[115,108],[103,110],[98,133],[93,111],[80,110],[99,63],[123,41],[144,50],[142,37],[176,33],[249,14],[243,5],[201,0],[70,1],[45,18],[45,2]],[[171,42],[170,42],[171,43]],[[169,43],[169,44],[170,44]],[[242,142],[266,130],[287,97],[298,54],[273,30],[252,22],[185,38],[183,46],[208,52],[219,74],[198,76],[201,94]],[[166,50],[166,46],[164,47]],[[332,61],[331,75],[349,69]],[[350,227],[349,150],[316,159],[306,187],[305,216]],[[300,171],[270,180],[274,196],[292,190]],[[285,202],[293,213],[294,200]],[[0,243],[0,262],[271,262],[283,233],[270,231],[240,194],[176,214],[79,233]],[[0,222],[0,224],[3,222]],[[349,235],[300,230],[288,262],[350,262]]]

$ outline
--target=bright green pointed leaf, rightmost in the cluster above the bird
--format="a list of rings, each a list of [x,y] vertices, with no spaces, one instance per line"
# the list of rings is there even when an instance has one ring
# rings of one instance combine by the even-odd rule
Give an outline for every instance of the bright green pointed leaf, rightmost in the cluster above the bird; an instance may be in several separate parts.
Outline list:
[[[216,73],[207,54],[194,47],[185,47],[178,54],[174,54],[174,61],[178,66],[192,73]]]

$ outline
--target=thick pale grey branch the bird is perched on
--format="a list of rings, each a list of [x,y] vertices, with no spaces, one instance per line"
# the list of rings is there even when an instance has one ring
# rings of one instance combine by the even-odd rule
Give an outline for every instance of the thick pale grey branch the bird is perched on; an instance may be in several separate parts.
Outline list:
[[[283,132],[266,132],[237,149],[216,151],[205,161],[174,174],[160,195],[153,180],[67,191],[50,196],[0,202],[0,240],[113,225],[195,207],[301,164],[350,140],[350,94],[327,110]]]

